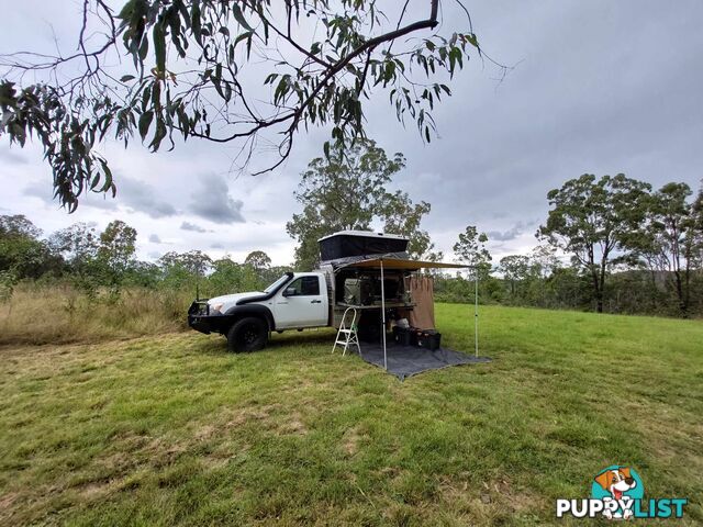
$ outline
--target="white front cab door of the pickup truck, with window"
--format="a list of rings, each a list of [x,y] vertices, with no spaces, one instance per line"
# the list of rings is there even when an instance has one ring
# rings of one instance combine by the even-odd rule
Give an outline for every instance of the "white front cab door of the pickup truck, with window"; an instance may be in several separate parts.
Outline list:
[[[327,325],[327,290],[320,276],[299,277],[276,295],[276,328]]]

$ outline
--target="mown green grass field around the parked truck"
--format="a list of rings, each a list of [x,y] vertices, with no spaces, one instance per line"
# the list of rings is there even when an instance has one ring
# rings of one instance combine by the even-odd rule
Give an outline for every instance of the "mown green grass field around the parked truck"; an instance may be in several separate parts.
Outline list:
[[[613,463],[703,523],[700,321],[484,307],[493,362],[402,383],[331,339],[0,348],[0,524],[569,525]]]

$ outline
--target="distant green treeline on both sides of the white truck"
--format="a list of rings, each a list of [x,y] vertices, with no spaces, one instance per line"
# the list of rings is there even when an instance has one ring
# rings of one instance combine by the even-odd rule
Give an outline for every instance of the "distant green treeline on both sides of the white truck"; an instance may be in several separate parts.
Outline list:
[[[481,302],[703,316],[702,191],[694,195],[680,182],[652,190],[624,175],[583,175],[550,191],[548,200],[547,221],[536,233],[539,244],[527,255],[494,262],[488,236],[467,226],[453,251],[472,270],[458,278],[437,274],[436,299],[472,302],[472,277],[478,276]],[[417,227],[420,215],[411,216]],[[423,240],[416,253],[432,248],[426,232],[413,233]],[[23,215],[0,216],[0,300],[9,300],[18,284],[58,283],[69,288],[65,307],[74,313],[96,302],[116,304],[124,291],[136,288],[160,292],[163,309],[182,322],[197,289],[203,298],[261,290],[291,270],[272,267],[260,250],[243,262],[213,260],[199,250],[141,261],[135,258],[136,236],[116,220],[102,232],[78,223],[42,237]]]

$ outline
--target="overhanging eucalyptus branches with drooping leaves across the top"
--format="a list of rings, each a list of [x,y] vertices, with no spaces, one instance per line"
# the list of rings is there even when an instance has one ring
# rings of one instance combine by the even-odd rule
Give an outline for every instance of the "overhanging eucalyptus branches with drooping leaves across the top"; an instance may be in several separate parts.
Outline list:
[[[129,0],[118,13],[107,0],[81,3],[76,53],[0,57],[0,134],[41,142],[69,211],[87,190],[114,195],[97,148],[109,135],[153,152],[177,137],[236,142],[245,166],[258,142],[274,141],[278,160],[255,167],[260,173],[310,126],[331,127],[337,146],[364,137],[364,103],[386,90],[398,120],[429,142],[434,105],[450,96],[437,78],[453,77],[470,53],[491,60],[466,9],[446,22],[458,31],[434,32],[439,0],[410,23],[406,4],[383,12],[376,0]],[[131,60],[116,60],[122,54]],[[18,85],[27,71],[37,80]]]

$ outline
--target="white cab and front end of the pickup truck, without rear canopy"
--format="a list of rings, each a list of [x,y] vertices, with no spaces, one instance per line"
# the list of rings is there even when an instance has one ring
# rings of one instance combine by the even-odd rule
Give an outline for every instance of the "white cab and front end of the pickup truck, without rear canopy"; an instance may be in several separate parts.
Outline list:
[[[188,325],[227,337],[230,351],[255,351],[270,332],[333,324],[325,272],[287,272],[264,291],[194,301]]]

